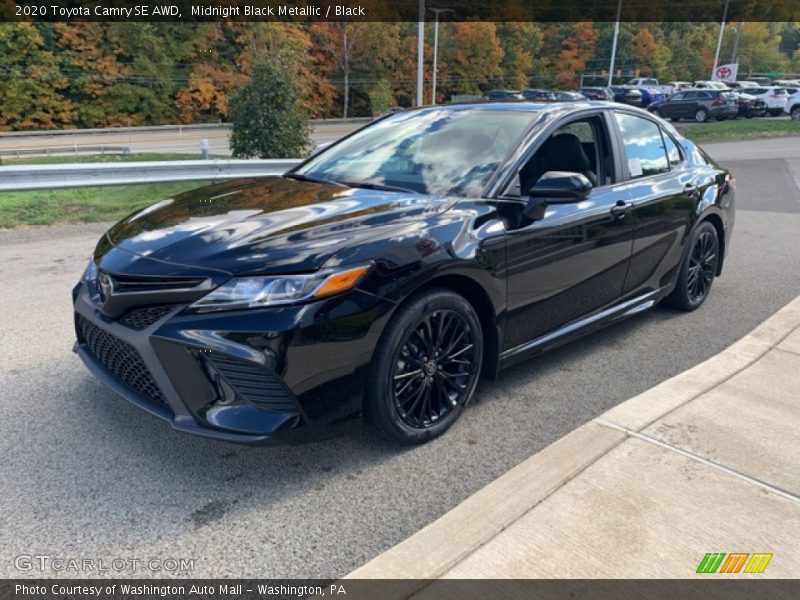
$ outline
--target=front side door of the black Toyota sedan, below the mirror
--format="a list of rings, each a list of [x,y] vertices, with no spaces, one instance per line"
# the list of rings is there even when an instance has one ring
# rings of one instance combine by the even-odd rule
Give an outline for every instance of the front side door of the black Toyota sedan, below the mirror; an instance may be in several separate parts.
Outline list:
[[[559,132],[582,137],[581,147],[596,150],[593,163],[598,170],[597,185],[584,201],[546,205],[540,218],[508,221],[506,351],[513,352],[608,307],[622,294],[634,227],[628,211],[629,194],[625,191],[627,184],[619,182],[617,149],[609,135],[606,111],[589,114],[558,123],[534,146],[536,152],[520,170],[522,179],[547,141]],[[580,135],[590,127],[592,139]],[[562,163],[547,170],[576,170],[564,166],[569,165]],[[519,191],[517,186],[518,195]],[[517,210],[526,199],[520,200],[506,205],[506,209]]]

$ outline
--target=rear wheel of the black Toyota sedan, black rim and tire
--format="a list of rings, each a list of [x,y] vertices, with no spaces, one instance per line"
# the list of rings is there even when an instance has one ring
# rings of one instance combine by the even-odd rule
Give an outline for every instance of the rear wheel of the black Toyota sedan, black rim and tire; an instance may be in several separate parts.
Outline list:
[[[675,288],[664,298],[664,304],[692,311],[705,302],[717,273],[719,248],[716,227],[708,221],[700,223],[692,232]]]

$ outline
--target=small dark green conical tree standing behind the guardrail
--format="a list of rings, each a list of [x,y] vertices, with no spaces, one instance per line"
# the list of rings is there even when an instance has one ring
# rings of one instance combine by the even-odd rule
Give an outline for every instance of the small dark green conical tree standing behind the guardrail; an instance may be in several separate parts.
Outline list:
[[[253,65],[250,81],[231,98],[228,108],[236,157],[294,158],[311,148],[294,74],[280,57]]]

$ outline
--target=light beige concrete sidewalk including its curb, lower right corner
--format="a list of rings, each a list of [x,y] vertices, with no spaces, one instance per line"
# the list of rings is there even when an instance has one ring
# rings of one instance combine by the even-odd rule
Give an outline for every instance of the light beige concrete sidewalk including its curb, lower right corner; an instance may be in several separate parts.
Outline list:
[[[798,431],[800,297],[348,578],[403,578],[415,588],[435,579],[794,578]],[[744,573],[749,558],[738,574],[697,574],[713,552],[773,557],[758,575]],[[415,597],[435,595],[426,590]]]

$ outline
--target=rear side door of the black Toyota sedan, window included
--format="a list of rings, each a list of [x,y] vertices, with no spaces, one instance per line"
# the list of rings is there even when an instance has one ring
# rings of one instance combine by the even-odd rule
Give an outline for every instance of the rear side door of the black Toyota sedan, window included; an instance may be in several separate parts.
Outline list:
[[[635,297],[660,289],[680,261],[699,184],[679,144],[654,119],[615,111],[614,122],[636,221],[623,294]]]

